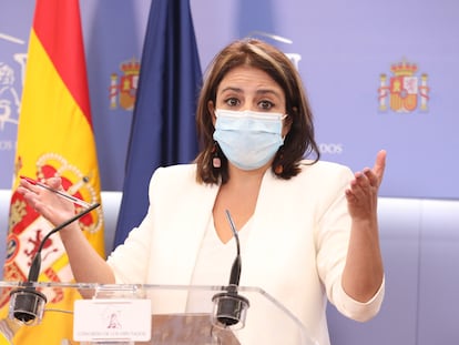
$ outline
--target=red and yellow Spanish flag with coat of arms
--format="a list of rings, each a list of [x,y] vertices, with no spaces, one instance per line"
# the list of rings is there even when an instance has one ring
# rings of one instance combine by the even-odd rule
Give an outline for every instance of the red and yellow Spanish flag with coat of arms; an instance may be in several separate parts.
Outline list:
[[[19,176],[39,181],[61,176],[68,193],[89,203],[101,202],[78,0],[35,2],[14,166],[3,276],[6,281],[23,282],[41,240],[52,226],[16,192]],[[88,241],[104,256],[102,207],[84,215],[79,223]],[[42,322],[22,326],[13,344],[75,344],[73,318],[68,312],[80,295],[59,285],[73,282],[59,234],[49,237],[41,255],[38,281],[57,284],[42,291],[48,300]],[[3,317],[9,293],[4,290],[0,297]]]

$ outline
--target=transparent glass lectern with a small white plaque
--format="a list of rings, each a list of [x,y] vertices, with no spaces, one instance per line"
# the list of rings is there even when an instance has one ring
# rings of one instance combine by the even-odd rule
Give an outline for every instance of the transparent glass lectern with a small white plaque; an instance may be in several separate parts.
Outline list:
[[[11,295],[8,323],[0,326],[7,338],[14,332],[11,328],[33,327],[48,313],[62,313],[74,318],[72,344],[317,345],[288,310],[257,287],[12,282],[0,282],[0,287]],[[59,311],[47,304],[49,288],[78,292],[84,298],[76,298],[70,311]],[[141,315],[145,305],[146,316]],[[130,327],[145,323],[147,338],[132,337]]]

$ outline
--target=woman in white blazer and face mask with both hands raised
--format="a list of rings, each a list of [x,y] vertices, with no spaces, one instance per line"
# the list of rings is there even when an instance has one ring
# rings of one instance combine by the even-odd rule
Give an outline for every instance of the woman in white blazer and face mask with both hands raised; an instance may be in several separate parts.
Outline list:
[[[326,297],[354,319],[376,315],[384,296],[377,193],[385,151],[373,169],[354,174],[319,161],[298,72],[279,50],[253,39],[215,57],[196,121],[203,150],[195,163],[155,171],[147,215],[108,262],[78,224],[61,231],[75,280],[224,284],[235,256],[228,210],[242,243],[241,285],[262,287],[319,344],[329,344]],[[47,183],[62,187],[59,177]],[[74,213],[27,181],[20,192],[53,224]]]

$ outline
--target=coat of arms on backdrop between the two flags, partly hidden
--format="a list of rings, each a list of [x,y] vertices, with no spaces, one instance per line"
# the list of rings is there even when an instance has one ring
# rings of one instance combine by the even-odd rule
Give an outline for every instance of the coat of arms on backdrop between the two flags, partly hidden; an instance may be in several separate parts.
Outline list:
[[[110,81],[110,108],[116,109],[119,105],[124,110],[133,110],[135,94],[139,85],[140,62],[132,58],[121,63],[121,77],[112,73]]]

